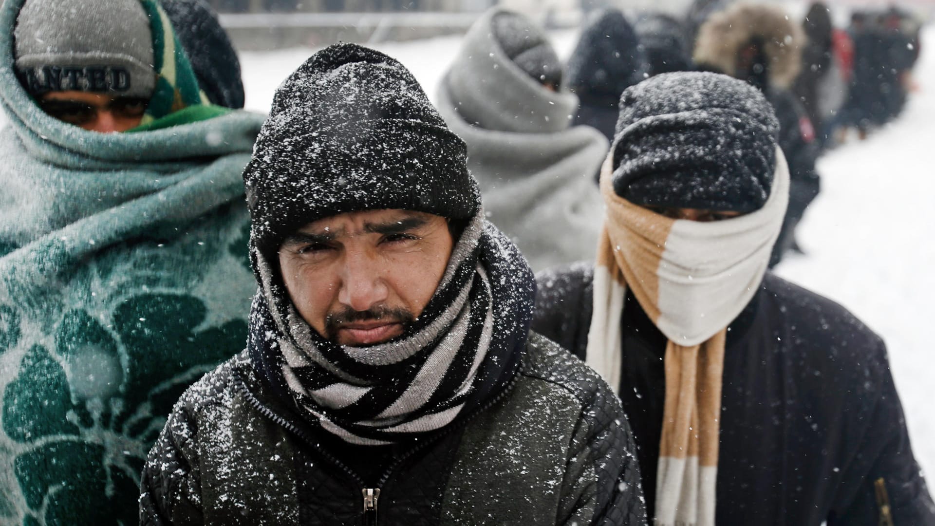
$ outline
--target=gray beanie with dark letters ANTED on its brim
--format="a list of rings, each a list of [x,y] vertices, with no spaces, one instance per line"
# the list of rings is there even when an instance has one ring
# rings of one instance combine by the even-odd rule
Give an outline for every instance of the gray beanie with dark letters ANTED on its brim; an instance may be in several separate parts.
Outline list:
[[[14,38],[16,66],[32,95],[150,98],[156,87],[151,22],[140,0],[27,0]]]

